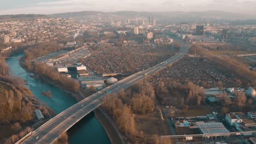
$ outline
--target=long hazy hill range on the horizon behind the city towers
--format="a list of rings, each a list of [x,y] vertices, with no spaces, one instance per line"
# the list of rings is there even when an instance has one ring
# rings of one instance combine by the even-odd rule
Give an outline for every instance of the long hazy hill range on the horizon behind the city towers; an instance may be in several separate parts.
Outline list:
[[[92,14],[106,14],[106,15],[120,15],[124,17],[148,17],[153,16],[157,17],[157,19],[187,19],[194,20],[200,18],[208,18],[208,19],[219,19],[219,20],[244,20],[244,19],[256,19],[256,15],[247,15],[247,14],[238,14],[238,13],[229,13],[225,11],[166,11],[166,12],[137,12],[137,11],[117,11],[112,13],[103,13],[100,11],[80,11],[74,13],[60,13],[48,15],[49,17],[85,17]]]

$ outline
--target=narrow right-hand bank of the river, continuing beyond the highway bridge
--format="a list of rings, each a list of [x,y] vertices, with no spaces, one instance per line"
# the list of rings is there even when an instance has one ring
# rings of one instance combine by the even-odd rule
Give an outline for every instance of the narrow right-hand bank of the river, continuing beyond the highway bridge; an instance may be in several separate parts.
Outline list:
[[[33,73],[34,72],[30,69],[27,69],[24,61],[22,61],[22,58],[20,59],[19,65],[22,69],[24,69],[25,71],[29,72],[29,73]],[[66,88],[62,87],[60,84],[54,82],[53,80],[48,79],[45,76],[42,76],[40,74],[35,74],[36,77],[38,77],[40,80],[45,81],[47,83],[50,83],[51,85],[54,85],[56,87],[59,87],[62,91],[68,93],[69,95],[72,95],[72,97],[76,98],[77,101],[80,101],[86,97],[89,97],[91,95],[91,93],[89,92],[85,92],[84,89],[79,89],[78,92],[73,92],[73,91],[68,91]],[[95,111],[94,111],[95,112]],[[104,131],[106,132],[106,134],[108,135],[109,139],[115,143],[120,143],[120,141],[122,141],[123,137],[121,137],[121,139],[118,138],[118,131],[117,128],[114,127],[114,125],[112,125],[109,121],[108,118],[101,112],[101,111],[97,111],[97,116],[96,118],[98,119],[98,121],[101,123],[102,127],[104,128]],[[96,114],[95,113],[95,114]],[[111,128],[112,127],[112,128]],[[116,130],[115,130],[116,129]],[[112,142],[112,143],[113,143]],[[124,143],[124,142],[121,142]]]

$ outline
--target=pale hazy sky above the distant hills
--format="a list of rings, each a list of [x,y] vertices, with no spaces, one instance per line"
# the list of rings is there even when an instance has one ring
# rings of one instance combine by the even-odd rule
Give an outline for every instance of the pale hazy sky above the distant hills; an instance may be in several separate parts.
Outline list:
[[[72,11],[205,11],[256,14],[256,0],[0,0],[3,14],[54,14]]]

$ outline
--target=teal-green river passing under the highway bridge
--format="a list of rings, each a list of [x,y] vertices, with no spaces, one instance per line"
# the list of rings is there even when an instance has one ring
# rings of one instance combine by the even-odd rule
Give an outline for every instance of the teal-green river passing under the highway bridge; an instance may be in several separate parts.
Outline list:
[[[63,92],[61,88],[55,87],[40,79],[30,77],[31,73],[27,73],[19,65],[19,57],[24,56],[24,53],[14,55],[8,58],[7,64],[10,68],[10,75],[18,75],[26,80],[32,93],[35,97],[48,104],[56,113],[66,110],[68,107],[77,103],[77,100],[71,95]],[[51,91],[53,98],[44,97],[42,91]],[[104,131],[101,123],[94,116],[94,113],[85,116],[80,122],[75,124],[68,130],[68,143],[110,143],[110,140]]]

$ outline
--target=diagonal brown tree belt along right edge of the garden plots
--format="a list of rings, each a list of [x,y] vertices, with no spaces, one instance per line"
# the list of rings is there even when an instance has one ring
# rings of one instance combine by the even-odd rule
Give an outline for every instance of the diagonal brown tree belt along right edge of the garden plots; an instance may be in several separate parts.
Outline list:
[[[201,46],[193,45],[190,52],[194,53],[194,51],[196,51],[197,55],[210,58],[213,62],[220,65],[220,67],[231,71],[231,73],[235,73],[250,82],[256,83],[256,72],[250,70],[247,65],[237,62],[235,59],[228,56],[213,55],[210,51],[203,49]]]

